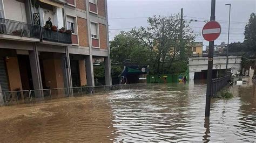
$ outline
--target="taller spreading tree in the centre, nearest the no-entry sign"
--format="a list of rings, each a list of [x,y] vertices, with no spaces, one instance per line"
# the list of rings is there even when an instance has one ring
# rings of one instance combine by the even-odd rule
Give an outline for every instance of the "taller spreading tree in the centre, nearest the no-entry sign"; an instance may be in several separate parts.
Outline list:
[[[154,16],[147,22],[149,26],[133,29],[131,33],[147,48],[153,73],[170,73],[173,62],[187,62],[195,38],[188,23],[184,21],[180,25],[179,14],[170,17]],[[181,37],[180,26],[183,29]],[[185,57],[179,56],[181,51]]]

